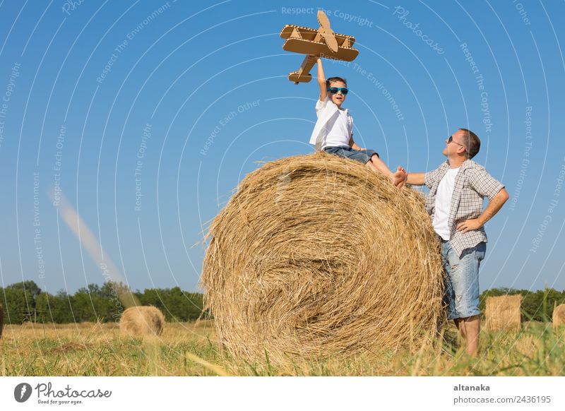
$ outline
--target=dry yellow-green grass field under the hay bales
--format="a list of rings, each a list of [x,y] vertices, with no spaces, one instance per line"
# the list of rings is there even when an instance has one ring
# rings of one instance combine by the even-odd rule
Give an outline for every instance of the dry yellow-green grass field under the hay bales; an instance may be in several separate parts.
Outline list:
[[[323,359],[273,367],[235,361],[222,351],[210,321],[167,323],[157,339],[119,334],[117,323],[5,326],[2,376],[563,376],[565,330],[526,323],[520,333],[481,333],[476,359],[459,350],[456,332],[429,350],[384,353],[378,359]]]

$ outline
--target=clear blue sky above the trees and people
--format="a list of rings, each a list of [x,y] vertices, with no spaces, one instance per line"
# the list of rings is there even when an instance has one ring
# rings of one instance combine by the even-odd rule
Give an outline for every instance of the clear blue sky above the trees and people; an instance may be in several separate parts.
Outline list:
[[[287,80],[302,56],[278,33],[319,7],[357,40],[355,61],[324,63],[359,145],[424,172],[458,127],[482,139],[511,199],[481,288],[565,289],[565,5],[510,0],[1,1],[2,284],[105,280],[59,186],[133,289],[198,290],[203,227],[238,181],[313,151],[317,85]]]

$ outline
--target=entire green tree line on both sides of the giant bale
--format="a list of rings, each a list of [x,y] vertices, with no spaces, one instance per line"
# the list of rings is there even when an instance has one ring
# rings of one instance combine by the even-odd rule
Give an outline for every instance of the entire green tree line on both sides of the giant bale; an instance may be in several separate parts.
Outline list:
[[[89,284],[74,294],[64,290],[44,292],[33,281],[0,287],[0,304],[4,306],[4,323],[81,323],[85,321],[118,321],[124,311],[123,296],[129,288],[121,283]],[[565,304],[565,290],[516,290],[493,288],[480,295],[484,313],[487,297],[522,295],[522,321],[551,321],[554,306]],[[152,305],[165,314],[167,321],[194,321],[203,313],[203,294],[185,292],[179,287],[149,288],[133,292],[141,305]],[[118,296],[122,298],[118,298]],[[131,298],[131,297],[130,297]],[[205,316],[203,316],[205,317]]]

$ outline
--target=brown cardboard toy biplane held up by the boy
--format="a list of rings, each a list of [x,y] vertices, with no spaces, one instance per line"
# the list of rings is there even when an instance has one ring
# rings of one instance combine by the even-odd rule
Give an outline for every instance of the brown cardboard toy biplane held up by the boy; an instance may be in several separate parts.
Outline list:
[[[353,61],[359,50],[352,47],[355,37],[340,35],[330,28],[330,20],[326,13],[318,11],[318,23],[320,28],[300,27],[299,25],[287,24],[280,32],[280,37],[286,39],[283,50],[307,54],[302,66],[298,71],[289,73],[288,79],[298,83],[308,83],[311,81],[311,68],[314,63],[308,61],[308,56],[322,56],[326,59]]]

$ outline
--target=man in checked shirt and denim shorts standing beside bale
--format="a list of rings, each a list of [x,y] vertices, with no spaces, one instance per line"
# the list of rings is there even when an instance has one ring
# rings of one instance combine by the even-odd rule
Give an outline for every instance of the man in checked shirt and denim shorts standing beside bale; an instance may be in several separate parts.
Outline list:
[[[429,187],[426,210],[441,240],[448,319],[455,321],[470,355],[477,355],[479,346],[479,266],[487,243],[483,226],[509,198],[504,186],[471,160],[479,149],[475,133],[459,129],[446,140],[446,162],[406,177],[408,184]],[[489,204],[483,210],[484,197]]]

